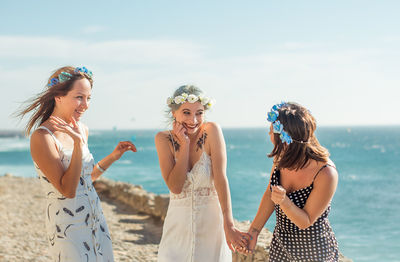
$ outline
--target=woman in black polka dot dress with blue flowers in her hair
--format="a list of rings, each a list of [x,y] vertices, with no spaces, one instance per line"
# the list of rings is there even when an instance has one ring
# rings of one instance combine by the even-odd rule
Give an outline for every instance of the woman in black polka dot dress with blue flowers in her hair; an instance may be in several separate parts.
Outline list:
[[[248,249],[242,251],[254,250],[258,233],[275,210],[269,261],[338,261],[337,241],[328,220],[338,173],[328,150],[315,137],[316,121],[296,103],[275,105],[268,121],[274,145],[268,156],[274,164],[249,228]]]

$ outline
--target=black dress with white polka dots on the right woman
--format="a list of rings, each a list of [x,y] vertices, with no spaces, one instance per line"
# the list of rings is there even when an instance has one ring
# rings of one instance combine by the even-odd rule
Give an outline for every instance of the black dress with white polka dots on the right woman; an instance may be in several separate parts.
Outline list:
[[[323,166],[318,173],[326,166],[328,165]],[[280,185],[280,171],[277,169],[272,174],[271,185]],[[289,199],[299,208],[303,208],[313,189],[313,185],[314,183],[289,193]],[[300,229],[289,220],[279,205],[275,205],[276,226],[271,242],[270,261],[338,261],[337,241],[328,220],[330,209],[329,205],[312,226]]]

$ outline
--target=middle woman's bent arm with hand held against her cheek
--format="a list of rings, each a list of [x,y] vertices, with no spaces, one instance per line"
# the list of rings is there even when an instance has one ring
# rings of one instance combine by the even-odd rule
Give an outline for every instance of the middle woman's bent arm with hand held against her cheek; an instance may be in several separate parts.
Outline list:
[[[181,127],[180,124],[178,124],[178,127]],[[189,168],[189,138],[184,135],[184,130],[182,129],[177,131],[177,138],[180,139],[174,142],[179,144],[175,149],[177,158],[175,163],[174,155],[169,147],[171,143],[169,134],[167,132],[159,132],[155,137],[161,174],[168,189],[174,194],[180,194],[182,192],[183,184],[186,180],[186,173]],[[172,137],[172,139],[175,138]]]

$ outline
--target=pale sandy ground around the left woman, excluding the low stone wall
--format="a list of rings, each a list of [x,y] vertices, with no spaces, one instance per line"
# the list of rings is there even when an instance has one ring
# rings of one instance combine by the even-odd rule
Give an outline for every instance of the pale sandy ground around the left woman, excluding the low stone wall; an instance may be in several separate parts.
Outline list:
[[[162,222],[105,196],[101,198],[115,261],[156,261]],[[0,261],[51,261],[39,180],[0,176],[0,203]]]

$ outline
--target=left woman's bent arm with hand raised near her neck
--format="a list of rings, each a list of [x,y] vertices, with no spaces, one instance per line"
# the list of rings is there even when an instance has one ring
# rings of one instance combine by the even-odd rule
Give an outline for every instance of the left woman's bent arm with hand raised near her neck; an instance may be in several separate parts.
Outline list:
[[[32,159],[50,183],[63,196],[74,198],[82,170],[83,139],[77,126],[75,126],[75,128],[65,127],[61,122],[54,125],[56,130],[63,130],[62,132],[69,133],[74,140],[74,148],[69,167],[64,171],[53,137],[42,129],[36,130],[31,136],[30,148]],[[68,129],[68,131],[66,131],[66,129]],[[71,132],[73,133],[72,135]]]

